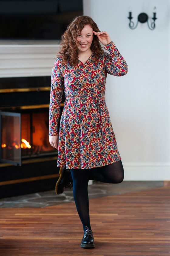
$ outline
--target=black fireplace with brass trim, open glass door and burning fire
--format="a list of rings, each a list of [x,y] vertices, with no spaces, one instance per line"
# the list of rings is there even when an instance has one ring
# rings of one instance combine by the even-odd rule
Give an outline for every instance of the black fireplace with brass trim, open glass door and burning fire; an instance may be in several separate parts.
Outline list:
[[[51,76],[0,78],[1,198],[55,193],[60,167],[49,144],[50,85]],[[63,91],[60,117],[64,101]]]

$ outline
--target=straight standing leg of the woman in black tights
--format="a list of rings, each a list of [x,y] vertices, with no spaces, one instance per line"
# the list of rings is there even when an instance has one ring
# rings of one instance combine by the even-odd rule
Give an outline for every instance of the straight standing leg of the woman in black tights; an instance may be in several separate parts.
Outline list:
[[[88,197],[88,169],[70,169],[73,178],[73,196],[76,203],[77,212],[83,224],[91,230],[90,216],[89,216],[89,197]]]

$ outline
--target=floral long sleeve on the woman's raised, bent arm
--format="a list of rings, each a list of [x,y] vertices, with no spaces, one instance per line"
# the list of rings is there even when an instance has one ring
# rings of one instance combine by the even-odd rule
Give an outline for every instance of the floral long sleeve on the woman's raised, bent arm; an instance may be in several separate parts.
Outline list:
[[[128,71],[127,63],[116,48],[113,41],[105,45],[104,49],[110,52],[105,52],[105,70],[108,74],[114,76],[124,76]]]

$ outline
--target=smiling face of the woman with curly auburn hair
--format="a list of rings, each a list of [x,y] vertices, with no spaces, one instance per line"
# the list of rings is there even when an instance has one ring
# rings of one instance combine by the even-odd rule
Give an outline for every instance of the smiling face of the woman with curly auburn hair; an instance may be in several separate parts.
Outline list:
[[[90,25],[84,25],[83,29],[77,31],[77,41],[79,42],[78,53],[80,52],[89,52],[90,45],[93,41],[93,29]]]

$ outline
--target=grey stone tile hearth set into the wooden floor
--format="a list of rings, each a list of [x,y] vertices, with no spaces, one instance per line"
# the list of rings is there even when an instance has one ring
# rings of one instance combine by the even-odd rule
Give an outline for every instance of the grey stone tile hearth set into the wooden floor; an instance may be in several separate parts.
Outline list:
[[[163,187],[163,181],[123,181],[119,184],[108,184],[94,181],[89,185],[89,199],[110,195],[125,194],[135,191]],[[63,194],[56,195],[55,189],[34,194],[8,197],[0,199],[0,208],[43,208],[57,204],[74,202],[73,188],[64,190]]]

